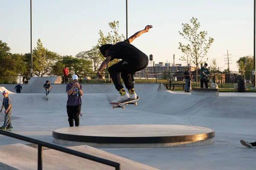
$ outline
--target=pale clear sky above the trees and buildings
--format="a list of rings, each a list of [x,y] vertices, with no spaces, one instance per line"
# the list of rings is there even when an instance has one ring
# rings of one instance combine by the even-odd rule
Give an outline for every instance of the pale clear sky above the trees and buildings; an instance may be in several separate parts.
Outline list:
[[[108,23],[119,21],[119,34],[126,37],[126,0],[32,0],[33,48],[40,38],[45,48],[60,55],[75,56],[88,51],[111,31]],[[0,40],[12,53],[30,52],[30,0],[0,0]],[[182,23],[198,18],[200,31],[207,31],[214,42],[207,53],[211,64],[217,60],[220,70],[238,71],[239,57],[253,56],[253,0],[128,0],[128,37],[152,25],[132,44],[155,63],[186,65],[178,49],[187,44],[178,33]]]

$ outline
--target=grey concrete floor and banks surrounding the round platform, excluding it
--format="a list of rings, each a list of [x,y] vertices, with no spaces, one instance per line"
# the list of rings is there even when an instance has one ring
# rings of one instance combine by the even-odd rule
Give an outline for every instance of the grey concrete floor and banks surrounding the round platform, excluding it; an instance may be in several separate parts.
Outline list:
[[[8,90],[8,86],[4,86]],[[14,88],[14,87],[13,87]],[[40,87],[31,86],[32,91]],[[56,86],[63,91],[65,86]],[[68,127],[67,94],[10,94],[13,102],[13,133],[53,143],[52,130]],[[195,125],[215,130],[214,143],[184,148],[100,148],[107,152],[161,170],[254,170],[256,148],[247,148],[240,139],[255,142],[256,93],[220,93],[198,96],[164,91],[159,84],[135,84],[138,105],[112,109],[114,85],[83,84],[80,125],[165,124]],[[22,93],[22,91],[21,91]],[[0,98],[0,102],[2,98]],[[3,123],[3,122],[2,122]],[[0,136],[0,145],[23,143]],[[63,145],[65,146],[65,145]]]

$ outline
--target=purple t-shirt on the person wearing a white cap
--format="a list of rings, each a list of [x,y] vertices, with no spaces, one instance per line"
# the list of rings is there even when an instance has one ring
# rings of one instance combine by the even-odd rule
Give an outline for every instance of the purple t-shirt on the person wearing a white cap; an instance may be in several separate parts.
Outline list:
[[[66,86],[66,92],[73,87],[73,83],[69,83]],[[80,84],[80,89],[82,91],[82,85]],[[82,104],[82,96],[78,92],[78,88],[74,88],[72,94],[67,95],[67,106],[77,106]]]

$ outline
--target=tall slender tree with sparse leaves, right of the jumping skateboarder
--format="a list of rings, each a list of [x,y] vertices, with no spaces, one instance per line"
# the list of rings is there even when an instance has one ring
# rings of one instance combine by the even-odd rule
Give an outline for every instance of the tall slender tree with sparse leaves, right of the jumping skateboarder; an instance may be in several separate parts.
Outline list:
[[[207,31],[199,31],[200,23],[197,18],[192,17],[190,23],[192,26],[188,23],[182,23],[182,31],[179,31],[179,34],[189,41],[189,44],[183,45],[179,42],[178,49],[180,49],[184,54],[180,60],[186,61],[186,57],[188,57],[189,61],[194,63],[198,68],[198,64],[205,61],[205,56],[214,39],[209,37],[207,40]],[[208,60],[208,58],[206,60]],[[198,69],[196,69],[196,75],[198,75]],[[198,87],[198,76],[196,76],[196,86]]]

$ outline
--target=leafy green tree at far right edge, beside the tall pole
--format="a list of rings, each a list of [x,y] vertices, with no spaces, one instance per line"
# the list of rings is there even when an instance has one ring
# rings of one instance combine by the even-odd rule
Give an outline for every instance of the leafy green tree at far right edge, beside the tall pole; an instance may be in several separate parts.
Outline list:
[[[239,72],[243,74],[243,72],[245,71],[245,76],[249,77],[249,79],[251,80],[251,73],[253,71],[253,57],[240,57],[239,60],[236,61],[236,64],[239,67]]]

